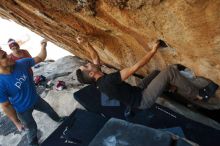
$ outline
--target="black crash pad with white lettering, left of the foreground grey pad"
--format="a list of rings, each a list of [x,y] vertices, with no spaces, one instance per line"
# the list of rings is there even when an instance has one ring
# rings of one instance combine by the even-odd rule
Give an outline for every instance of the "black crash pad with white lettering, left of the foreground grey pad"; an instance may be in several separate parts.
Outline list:
[[[87,146],[108,119],[76,109],[41,146]]]

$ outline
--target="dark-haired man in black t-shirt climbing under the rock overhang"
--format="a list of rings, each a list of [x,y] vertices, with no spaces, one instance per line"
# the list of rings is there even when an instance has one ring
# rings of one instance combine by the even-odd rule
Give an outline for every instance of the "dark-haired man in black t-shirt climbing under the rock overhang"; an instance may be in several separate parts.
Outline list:
[[[89,44],[87,41],[77,40],[77,42],[83,46]],[[139,109],[150,108],[170,84],[181,90],[184,96],[193,100],[207,101],[215,94],[218,88],[217,84],[210,82],[207,86],[198,88],[180,74],[176,65],[171,65],[161,72],[153,72],[145,77],[138,86],[131,86],[124,82],[138,69],[146,65],[159,47],[159,41],[157,41],[153,48],[136,64],[111,74],[104,74],[96,65],[99,63],[93,60],[93,63],[80,66],[76,71],[78,81],[84,84],[95,83],[97,88],[110,99],[118,99],[127,106]],[[97,55],[94,51],[94,49],[91,51],[91,56]],[[93,58],[97,57],[93,56]]]

